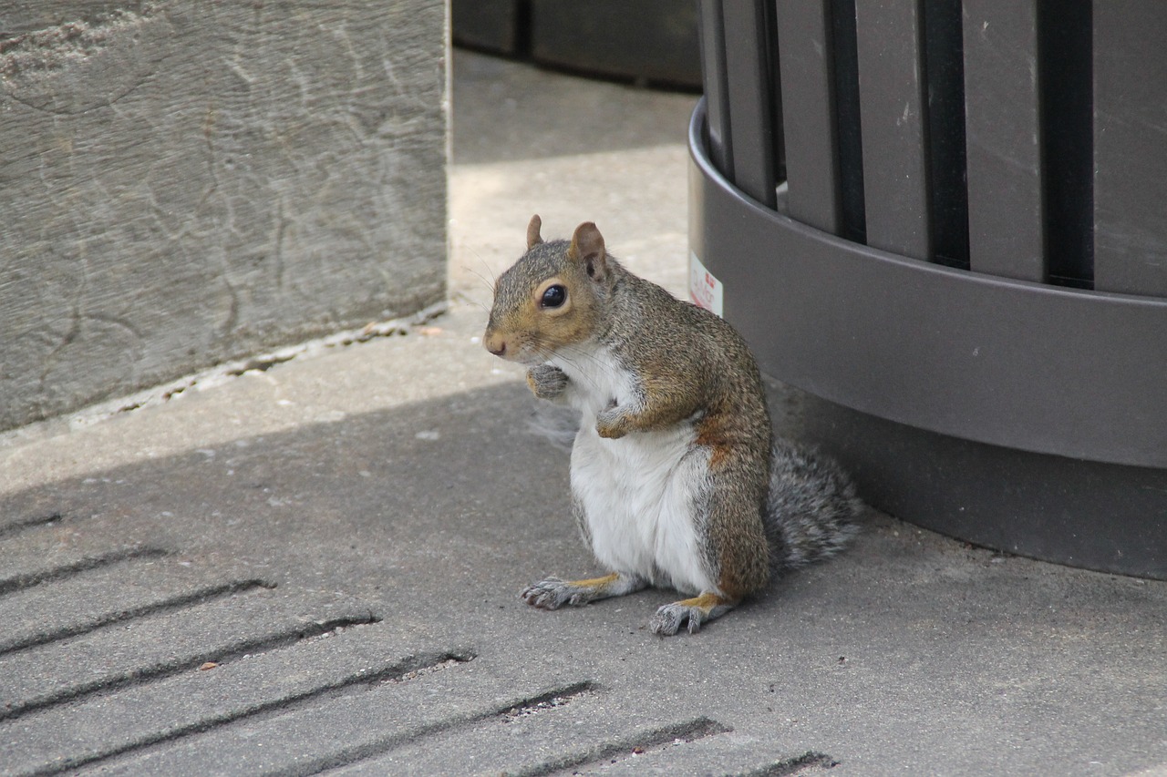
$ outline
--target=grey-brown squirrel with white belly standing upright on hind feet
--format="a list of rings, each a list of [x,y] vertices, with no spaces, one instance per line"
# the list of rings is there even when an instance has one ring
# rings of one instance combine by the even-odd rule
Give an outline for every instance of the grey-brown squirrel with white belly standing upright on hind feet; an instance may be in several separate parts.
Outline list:
[[[522,598],[581,606],[648,586],[658,635],[703,623],[771,576],[826,558],[862,509],[832,461],[776,440],[761,372],[720,316],[607,253],[595,224],[527,250],[495,284],[483,344],[527,368],[536,397],[580,411],[571,454],[580,534],[610,574],[548,578]]]

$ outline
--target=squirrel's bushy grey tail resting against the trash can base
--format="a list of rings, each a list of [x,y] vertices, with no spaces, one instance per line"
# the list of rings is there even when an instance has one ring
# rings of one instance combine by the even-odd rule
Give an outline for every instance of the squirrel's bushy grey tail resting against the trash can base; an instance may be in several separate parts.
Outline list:
[[[775,440],[762,519],[776,573],[841,551],[859,531],[854,520],[862,510],[854,484],[834,461]]]

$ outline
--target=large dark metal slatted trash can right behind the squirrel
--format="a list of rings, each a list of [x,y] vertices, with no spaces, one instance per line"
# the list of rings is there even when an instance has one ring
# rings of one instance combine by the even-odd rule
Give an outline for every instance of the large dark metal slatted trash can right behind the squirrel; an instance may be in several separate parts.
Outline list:
[[[699,9],[694,294],[783,430],[906,520],[1167,579],[1167,6]]]

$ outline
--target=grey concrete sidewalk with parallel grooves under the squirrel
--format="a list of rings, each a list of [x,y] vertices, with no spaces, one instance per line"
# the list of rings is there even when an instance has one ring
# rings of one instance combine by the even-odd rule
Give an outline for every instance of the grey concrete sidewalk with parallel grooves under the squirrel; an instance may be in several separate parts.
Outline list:
[[[0,439],[0,774],[1167,774],[1167,583],[872,513],[698,635],[522,604],[596,569],[490,278],[538,212],[682,292],[694,100],[454,64],[447,313]]]

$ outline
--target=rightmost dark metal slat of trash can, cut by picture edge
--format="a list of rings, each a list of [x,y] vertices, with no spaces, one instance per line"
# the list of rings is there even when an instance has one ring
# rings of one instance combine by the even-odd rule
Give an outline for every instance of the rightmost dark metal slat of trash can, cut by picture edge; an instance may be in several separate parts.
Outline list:
[[[1093,6],[1095,288],[1167,296],[1167,13]],[[1167,344],[1165,344],[1167,354]]]

